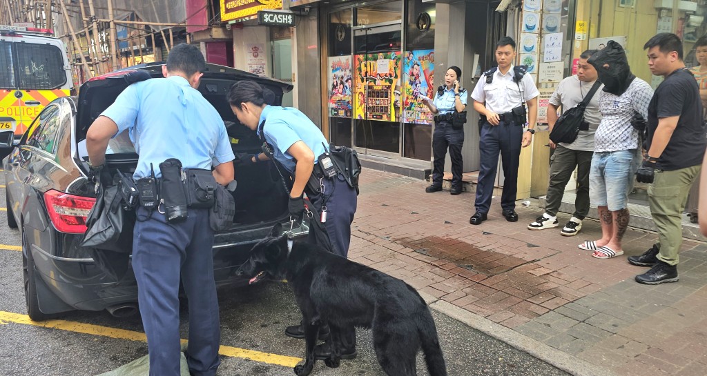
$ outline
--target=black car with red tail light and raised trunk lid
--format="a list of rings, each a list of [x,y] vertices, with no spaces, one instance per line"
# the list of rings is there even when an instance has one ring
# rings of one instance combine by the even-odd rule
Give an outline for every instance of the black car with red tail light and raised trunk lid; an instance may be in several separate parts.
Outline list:
[[[49,103],[30,125],[19,143],[2,132],[0,142],[11,148],[3,160],[6,181],[7,220],[22,235],[25,298],[31,319],[47,319],[69,310],[105,310],[124,316],[136,312],[137,284],[130,269],[129,252],[95,262],[94,249],[80,247],[86,217],[95,204],[93,184],[88,184],[86,131],[117,95],[127,87],[132,71],[161,77],[163,63],[143,64],[90,79],[78,97]],[[260,141],[243,127],[226,101],[236,81],[255,81],[269,89],[279,105],[292,86],[245,71],[206,64],[199,91],[226,122],[234,153],[257,153]],[[158,108],[155,109],[159,111]],[[11,132],[10,132],[11,133]],[[107,168],[132,174],[137,154],[127,134],[110,141]],[[234,162],[235,163],[235,162]],[[269,235],[274,224],[288,219],[284,181],[271,162],[236,165],[233,192],[236,213],[233,225],[217,233],[214,241],[216,283],[247,283],[235,276],[253,243]],[[110,263],[118,265],[110,265]],[[110,270],[127,270],[111,273]]]

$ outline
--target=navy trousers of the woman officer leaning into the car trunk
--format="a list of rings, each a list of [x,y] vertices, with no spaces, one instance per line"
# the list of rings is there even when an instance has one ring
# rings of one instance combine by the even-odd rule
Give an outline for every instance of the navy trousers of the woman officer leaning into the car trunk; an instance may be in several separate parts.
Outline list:
[[[327,221],[324,223],[329,234],[329,240],[334,247],[334,253],[348,257],[351,243],[351,223],[354,222],[358,197],[356,189],[349,187],[341,175],[332,179],[322,179],[323,192],[307,193],[312,205],[322,213],[322,206],[327,208]],[[314,221],[317,218],[312,218]],[[314,225],[314,224],[312,224]],[[310,236],[313,234],[310,232]]]

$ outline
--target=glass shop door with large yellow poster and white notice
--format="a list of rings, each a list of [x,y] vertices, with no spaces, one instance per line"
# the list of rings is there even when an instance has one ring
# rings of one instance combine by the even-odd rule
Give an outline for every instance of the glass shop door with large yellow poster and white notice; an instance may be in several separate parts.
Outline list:
[[[354,147],[361,153],[399,158],[399,21],[354,28]]]

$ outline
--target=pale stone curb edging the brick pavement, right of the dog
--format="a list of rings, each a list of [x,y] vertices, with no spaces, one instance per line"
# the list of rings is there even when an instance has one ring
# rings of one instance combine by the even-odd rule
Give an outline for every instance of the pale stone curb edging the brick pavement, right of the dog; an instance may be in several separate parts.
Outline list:
[[[431,309],[442,313],[452,319],[467,324],[472,329],[481,331],[498,341],[513,346],[520,351],[530,354],[534,358],[544,361],[564,372],[574,376],[617,376],[611,370],[589,363],[586,360],[563,353],[536,339],[524,336],[513,329],[508,329],[501,324],[496,324],[485,317],[452,305],[450,302],[439,300],[427,293],[418,292]]]

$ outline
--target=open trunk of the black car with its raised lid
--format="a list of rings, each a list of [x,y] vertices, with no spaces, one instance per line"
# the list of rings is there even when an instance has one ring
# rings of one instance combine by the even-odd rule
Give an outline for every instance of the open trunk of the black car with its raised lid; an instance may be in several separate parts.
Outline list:
[[[207,71],[201,78],[199,91],[206,100],[214,105],[222,119],[226,122],[226,130],[233,153],[255,154],[261,151],[261,142],[255,131],[244,127],[230,110],[226,101],[228,88],[236,81],[247,79],[256,81],[274,93],[274,105],[279,105],[284,91],[292,86],[269,78],[261,78],[236,69],[206,64]],[[141,69],[148,71],[154,78],[161,77],[161,64],[147,64]],[[88,81],[81,86],[78,96],[76,114],[76,142],[78,165],[88,172],[87,153],[85,147],[86,131],[103,110],[115,101],[119,93],[127,87],[123,75],[135,69],[125,69],[114,72],[115,76],[96,81]],[[83,146],[82,146],[83,143]],[[132,174],[137,165],[138,155],[135,153],[127,134],[119,134],[110,141],[106,155],[106,166],[113,172],[119,170]],[[157,168],[157,166],[155,166]],[[235,228],[247,228],[257,223],[274,223],[284,221],[287,217],[288,194],[284,180],[271,161],[248,165],[235,165],[235,180],[238,187],[233,192],[235,199]]]

